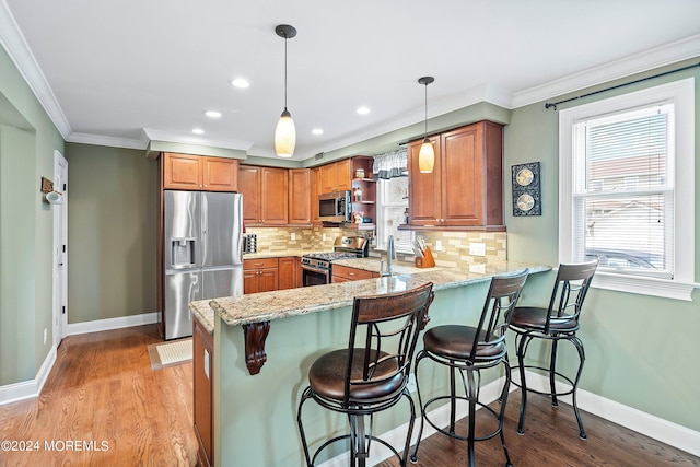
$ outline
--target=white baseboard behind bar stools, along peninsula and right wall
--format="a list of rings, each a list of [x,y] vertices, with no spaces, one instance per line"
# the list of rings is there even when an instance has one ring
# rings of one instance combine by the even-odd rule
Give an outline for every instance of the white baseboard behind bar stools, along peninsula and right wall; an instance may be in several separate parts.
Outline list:
[[[517,372],[513,372],[513,381],[515,383],[520,382]],[[500,378],[499,381],[489,383],[488,385],[483,386],[481,388],[481,401],[488,405],[497,400],[502,384],[503,378]],[[537,373],[527,372],[527,385],[533,389],[545,392],[549,388],[549,380]],[[565,386],[562,384],[557,384],[557,387],[558,390],[565,388]],[[511,385],[511,392],[513,390],[520,390],[520,388],[515,385]],[[413,399],[416,401],[416,405],[418,405],[418,397],[415,397]],[[623,406],[614,400],[606,399],[605,397],[600,397],[582,389],[579,389],[578,392],[578,399],[579,408],[585,410],[586,412],[593,413],[621,427],[653,437],[654,440],[658,440],[662,443],[666,443],[670,446],[682,450],[689,454],[692,454],[693,456],[700,456],[700,432],[698,431],[690,430],[689,428],[679,425],[677,423],[672,423],[662,418],[642,412],[641,410],[637,410],[631,407]],[[571,396],[561,397],[560,400],[571,405]],[[419,408],[417,407],[416,410],[418,411]],[[460,419],[463,417],[466,417],[466,404],[457,404],[457,418]],[[439,407],[430,411],[429,417],[438,427],[447,427],[450,420],[450,409],[446,405]],[[413,436],[410,443],[411,445],[413,445],[416,443],[416,440],[418,439],[419,424],[420,418],[417,418],[413,428]],[[585,427],[585,415],[583,416],[583,424]],[[404,443],[406,441],[407,433],[408,422],[380,435],[380,437],[394,446],[398,452],[401,452],[404,450]],[[431,425],[425,424],[421,439],[424,440],[434,433],[435,430]],[[368,466],[374,466],[382,460],[387,459],[392,455],[393,454],[389,450],[382,446],[380,443],[374,443],[373,452],[371,453],[371,457],[368,460]],[[320,464],[319,467],[347,466],[348,456],[349,454],[346,452]]]

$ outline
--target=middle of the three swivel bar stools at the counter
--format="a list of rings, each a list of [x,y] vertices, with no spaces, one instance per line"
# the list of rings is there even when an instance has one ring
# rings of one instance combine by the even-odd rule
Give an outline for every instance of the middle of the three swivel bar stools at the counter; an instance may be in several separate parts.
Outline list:
[[[436,326],[423,335],[423,350],[418,352],[416,357],[415,372],[418,400],[421,406],[421,423],[418,441],[416,442],[413,455],[411,456],[412,463],[418,462],[420,437],[423,433],[424,422],[428,422],[435,430],[447,436],[467,441],[469,466],[475,465],[475,442],[490,440],[499,434],[501,436],[501,445],[505,454],[506,465],[512,466],[511,457],[505,446],[505,439],[503,437],[503,413],[505,412],[508,392],[511,383],[511,367],[508,359],[504,358],[506,355],[505,330],[508,328],[508,317],[511,314],[510,312],[515,307],[523,285],[525,285],[527,272],[528,270],[524,269],[518,272],[497,276],[491,279],[489,292],[477,326]],[[420,384],[418,384],[418,367],[420,362],[425,358],[450,367],[450,395],[433,397],[423,405]],[[495,410],[479,401],[479,389],[481,385],[480,371],[500,364],[505,367],[505,383],[501,390],[501,409],[500,412],[497,413]],[[462,377],[465,392],[464,396],[458,395],[455,389],[456,371],[459,371]],[[445,399],[450,401],[448,430],[435,425],[427,413],[429,406]],[[457,400],[466,400],[469,405],[469,421],[466,437],[455,433]],[[497,429],[483,436],[476,436],[475,434],[477,406],[485,408],[493,415],[498,421]]]

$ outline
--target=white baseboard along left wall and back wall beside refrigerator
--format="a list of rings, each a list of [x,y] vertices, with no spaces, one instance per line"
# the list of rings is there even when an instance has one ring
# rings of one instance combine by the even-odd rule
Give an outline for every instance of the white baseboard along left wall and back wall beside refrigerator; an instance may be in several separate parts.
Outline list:
[[[158,313],[144,313],[135,316],[124,316],[119,318],[97,319],[94,322],[74,323],[68,325],[67,336],[98,332],[102,330],[119,329],[124,327],[141,326],[158,322]],[[56,362],[56,348],[51,348],[42,363],[36,377],[21,383],[0,386],[0,406],[16,402],[19,400],[38,397],[42,394],[44,384],[48,378],[54,363]]]

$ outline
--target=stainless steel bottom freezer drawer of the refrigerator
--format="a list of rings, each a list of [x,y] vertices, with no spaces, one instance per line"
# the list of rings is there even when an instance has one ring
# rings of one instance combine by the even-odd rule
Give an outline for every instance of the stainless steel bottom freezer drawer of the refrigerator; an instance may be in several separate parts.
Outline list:
[[[202,300],[200,270],[165,275],[165,339],[192,335],[189,302]]]

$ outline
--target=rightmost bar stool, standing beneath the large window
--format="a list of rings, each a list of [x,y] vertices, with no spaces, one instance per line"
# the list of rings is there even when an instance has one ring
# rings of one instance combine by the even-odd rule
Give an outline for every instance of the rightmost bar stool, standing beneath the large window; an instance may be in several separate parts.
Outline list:
[[[527,392],[551,397],[551,406],[558,407],[557,397],[571,394],[573,411],[579,422],[579,436],[586,439],[583,429],[581,413],[576,405],[576,388],[585,362],[583,342],[576,337],[580,327],[581,308],[588,293],[593,275],[598,266],[598,260],[574,265],[559,265],[555,288],[549,300],[549,307],[517,306],[513,311],[510,329],[515,331],[515,348],[517,349],[517,367],[521,375],[521,415],[517,423],[517,432],[525,433],[525,411],[527,410]],[[542,339],[551,342],[549,366],[526,365],[525,354],[533,339]],[[579,353],[579,369],[573,380],[557,371],[557,348],[560,340],[571,342]],[[549,377],[549,392],[540,392],[527,387],[525,370],[544,372]],[[557,389],[557,378],[571,385],[571,389]],[[559,390],[559,392],[558,392]]]

